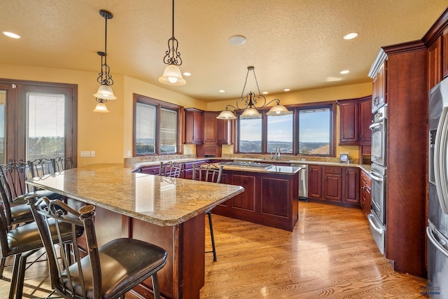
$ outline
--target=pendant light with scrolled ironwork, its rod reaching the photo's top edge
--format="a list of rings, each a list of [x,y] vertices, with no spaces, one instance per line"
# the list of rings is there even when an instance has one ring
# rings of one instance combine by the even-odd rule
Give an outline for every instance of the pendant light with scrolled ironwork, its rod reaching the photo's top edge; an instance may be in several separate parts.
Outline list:
[[[163,76],[159,78],[159,82],[167,85],[184,85],[185,79],[182,78],[179,65],[182,64],[181,53],[178,52],[179,42],[174,37],[174,0],[173,0],[173,16],[172,16],[172,36],[168,40],[168,50],[165,52],[163,62],[168,64],[163,72]]]

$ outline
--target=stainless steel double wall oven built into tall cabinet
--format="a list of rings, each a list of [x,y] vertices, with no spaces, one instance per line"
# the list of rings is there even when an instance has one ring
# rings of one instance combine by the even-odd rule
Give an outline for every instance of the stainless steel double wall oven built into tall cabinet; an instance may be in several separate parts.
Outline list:
[[[386,234],[386,123],[387,106],[382,106],[374,114],[372,130],[372,195],[371,207],[368,219],[370,231],[375,242],[384,254]]]

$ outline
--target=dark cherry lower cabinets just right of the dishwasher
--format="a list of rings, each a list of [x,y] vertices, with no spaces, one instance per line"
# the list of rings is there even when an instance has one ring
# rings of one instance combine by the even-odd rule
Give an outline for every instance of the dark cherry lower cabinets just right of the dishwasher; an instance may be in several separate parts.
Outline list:
[[[358,167],[309,165],[308,198],[345,205],[360,204]]]

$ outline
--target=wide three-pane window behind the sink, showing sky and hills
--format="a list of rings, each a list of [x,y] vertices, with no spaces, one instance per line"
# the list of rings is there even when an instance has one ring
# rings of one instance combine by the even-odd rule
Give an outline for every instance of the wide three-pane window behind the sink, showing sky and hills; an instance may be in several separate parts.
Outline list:
[[[335,155],[335,102],[289,106],[292,114],[237,120],[239,153],[281,153],[293,155]],[[238,115],[241,115],[239,111]]]

